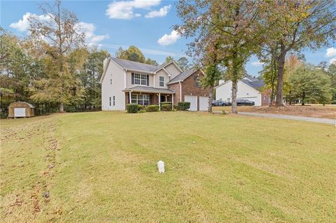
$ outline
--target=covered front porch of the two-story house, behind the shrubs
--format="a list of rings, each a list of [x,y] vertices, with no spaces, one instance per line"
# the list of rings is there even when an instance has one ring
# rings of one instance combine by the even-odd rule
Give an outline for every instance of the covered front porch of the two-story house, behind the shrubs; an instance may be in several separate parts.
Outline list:
[[[135,88],[135,89],[134,89]],[[172,102],[174,104],[174,92],[170,89],[158,89],[148,87],[148,89],[125,89],[125,103],[137,103],[141,106],[158,105],[161,102]]]

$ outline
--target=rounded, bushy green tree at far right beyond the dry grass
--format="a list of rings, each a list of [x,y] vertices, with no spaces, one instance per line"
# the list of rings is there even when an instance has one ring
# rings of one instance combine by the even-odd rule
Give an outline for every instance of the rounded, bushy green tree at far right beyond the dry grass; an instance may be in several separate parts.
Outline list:
[[[302,64],[290,75],[291,94],[305,101],[328,103],[331,99],[330,78],[328,75],[310,64]]]

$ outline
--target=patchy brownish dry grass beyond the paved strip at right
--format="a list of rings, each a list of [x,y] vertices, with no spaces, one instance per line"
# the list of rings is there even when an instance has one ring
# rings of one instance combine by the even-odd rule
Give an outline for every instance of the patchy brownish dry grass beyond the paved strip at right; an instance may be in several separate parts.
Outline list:
[[[225,110],[230,112],[231,106],[214,107],[214,110]],[[307,117],[321,117],[336,119],[335,105],[307,105],[307,106],[284,106],[284,107],[269,107],[269,106],[239,106],[238,111],[246,113],[270,113],[281,115],[297,115]]]

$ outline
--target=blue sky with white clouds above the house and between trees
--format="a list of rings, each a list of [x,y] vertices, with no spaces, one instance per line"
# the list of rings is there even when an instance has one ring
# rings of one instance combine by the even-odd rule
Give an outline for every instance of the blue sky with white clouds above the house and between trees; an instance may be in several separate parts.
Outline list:
[[[1,0],[1,27],[13,34],[27,35],[27,15],[34,14],[43,20],[38,8],[41,2]],[[185,55],[186,44],[190,42],[172,29],[181,22],[174,1],[63,1],[63,6],[78,16],[87,34],[87,43],[108,50],[111,55],[119,46],[136,45],[146,57],[162,63],[168,55],[174,59]],[[305,50],[304,56],[313,64],[336,60],[336,45],[330,46],[328,53],[326,48],[316,52]],[[256,57],[251,57],[246,64],[246,71],[251,75],[258,75],[261,68]]]

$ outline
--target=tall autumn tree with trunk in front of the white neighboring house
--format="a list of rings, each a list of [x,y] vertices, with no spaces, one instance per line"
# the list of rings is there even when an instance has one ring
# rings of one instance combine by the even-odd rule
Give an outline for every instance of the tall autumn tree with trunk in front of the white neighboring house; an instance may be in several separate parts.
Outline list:
[[[262,29],[258,24],[257,1],[188,1],[177,4],[182,25],[179,34],[195,37],[188,55],[202,64],[216,55],[232,80],[232,113],[237,113],[237,82],[244,74],[244,64],[257,47]],[[215,47],[216,46],[216,47]],[[207,50],[206,50],[207,49]],[[212,52],[209,53],[209,49]],[[216,73],[216,72],[209,72]]]

